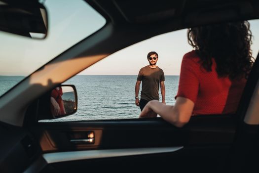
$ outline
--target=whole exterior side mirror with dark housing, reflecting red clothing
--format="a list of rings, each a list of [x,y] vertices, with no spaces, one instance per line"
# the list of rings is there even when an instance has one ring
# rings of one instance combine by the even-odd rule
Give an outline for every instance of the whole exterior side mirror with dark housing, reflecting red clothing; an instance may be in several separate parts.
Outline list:
[[[38,101],[38,120],[55,119],[74,114],[77,93],[73,85],[61,85],[44,94]]]

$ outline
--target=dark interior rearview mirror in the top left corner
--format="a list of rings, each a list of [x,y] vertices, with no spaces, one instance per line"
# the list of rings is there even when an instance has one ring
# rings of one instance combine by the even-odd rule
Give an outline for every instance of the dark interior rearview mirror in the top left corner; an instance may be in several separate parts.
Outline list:
[[[38,0],[0,0],[0,31],[44,39],[47,11]]]

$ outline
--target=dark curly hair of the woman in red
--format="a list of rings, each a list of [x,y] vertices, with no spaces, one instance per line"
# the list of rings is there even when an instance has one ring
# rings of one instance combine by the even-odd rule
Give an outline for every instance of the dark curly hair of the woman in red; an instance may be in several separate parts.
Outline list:
[[[212,58],[215,58],[219,77],[248,78],[255,61],[248,21],[189,28],[187,37],[206,71],[212,71]]]

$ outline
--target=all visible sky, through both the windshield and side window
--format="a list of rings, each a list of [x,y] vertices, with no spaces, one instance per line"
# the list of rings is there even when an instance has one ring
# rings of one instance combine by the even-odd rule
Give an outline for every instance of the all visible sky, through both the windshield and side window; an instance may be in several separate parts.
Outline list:
[[[62,6],[59,4],[62,3]],[[32,40],[0,32],[0,75],[27,76],[64,50],[105,25],[105,19],[83,0],[45,0],[49,32],[45,40]],[[259,52],[259,20],[251,21],[253,55]],[[165,75],[179,75],[183,55],[191,51],[186,29],[155,36],[126,47],[92,65],[79,75],[138,75],[156,51]]]

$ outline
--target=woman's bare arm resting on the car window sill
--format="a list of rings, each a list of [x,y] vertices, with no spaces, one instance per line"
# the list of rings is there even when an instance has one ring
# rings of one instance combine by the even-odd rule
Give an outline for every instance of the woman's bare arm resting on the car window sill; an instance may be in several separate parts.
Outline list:
[[[175,106],[152,100],[142,110],[140,118],[152,118],[159,114],[165,121],[177,127],[183,127],[189,122],[193,107],[193,101],[185,97],[177,97]]]

